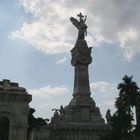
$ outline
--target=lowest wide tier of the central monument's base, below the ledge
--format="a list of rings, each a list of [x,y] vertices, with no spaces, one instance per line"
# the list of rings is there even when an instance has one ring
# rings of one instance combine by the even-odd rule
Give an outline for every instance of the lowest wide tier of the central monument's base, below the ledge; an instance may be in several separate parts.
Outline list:
[[[89,122],[56,123],[51,129],[51,140],[98,140],[107,132],[105,125]]]

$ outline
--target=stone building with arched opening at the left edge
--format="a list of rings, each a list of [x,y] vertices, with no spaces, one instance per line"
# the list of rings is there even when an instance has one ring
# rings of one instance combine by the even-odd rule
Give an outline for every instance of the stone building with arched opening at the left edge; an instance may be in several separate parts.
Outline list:
[[[30,101],[18,83],[0,81],[0,140],[27,140]]]

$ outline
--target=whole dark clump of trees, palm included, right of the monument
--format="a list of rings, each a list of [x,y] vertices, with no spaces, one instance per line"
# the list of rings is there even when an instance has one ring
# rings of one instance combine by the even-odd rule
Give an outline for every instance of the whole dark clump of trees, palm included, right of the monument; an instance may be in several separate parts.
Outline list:
[[[132,124],[134,114],[131,107],[137,108],[137,118],[140,118],[140,95],[137,83],[132,81],[132,76],[125,75],[122,80],[123,82],[118,85],[119,97],[115,101],[116,112],[110,120],[111,129],[102,136],[101,140],[131,140],[134,129]],[[139,130],[137,127],[135,132],[138,133]]]

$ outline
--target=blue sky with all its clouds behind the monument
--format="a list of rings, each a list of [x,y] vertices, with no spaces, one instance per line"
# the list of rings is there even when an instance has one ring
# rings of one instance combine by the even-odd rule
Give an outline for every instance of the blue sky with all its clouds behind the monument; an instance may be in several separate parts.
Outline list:
[[[0,0],[0,80],[18,82],[32,95],[37,117],[72,99],[70,50],[77,29],[70,17],[87,15],[91,97],[105,116],[113,111],[125,74],[140,85],[139,0]]]

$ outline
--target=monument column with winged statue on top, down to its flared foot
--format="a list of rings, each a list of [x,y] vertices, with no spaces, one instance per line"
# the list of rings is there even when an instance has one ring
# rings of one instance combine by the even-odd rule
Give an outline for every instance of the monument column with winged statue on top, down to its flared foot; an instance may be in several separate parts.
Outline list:
[[[90,85],[88,65],[92,62],[91,47],[88,47],[85,40],[87,34],[86,16],[81,13],[77,15],[79,21],[73,17],[70,18],[73,25],[78,29],[78,38],[74,48],[71,50],[71,64],[74,66],[74,88],[71,105],[94,106],[94,101],[90,98]]]

